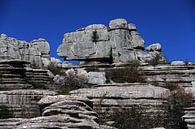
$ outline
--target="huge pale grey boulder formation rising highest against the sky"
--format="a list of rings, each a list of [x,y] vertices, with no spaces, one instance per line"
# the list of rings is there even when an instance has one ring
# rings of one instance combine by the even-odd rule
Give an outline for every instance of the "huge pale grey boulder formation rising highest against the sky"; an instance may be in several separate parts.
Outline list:
[[[159,45],[153,45],[159,46]],[[125,19],[110,21],[109,28],[102,24],[89,25],[76,32],[64,34],[58,55],[66,60],[127,63],[138,60],[145,62],[159,55],[165,62],[161,48],[144,51],[144,40],[134,24]]]

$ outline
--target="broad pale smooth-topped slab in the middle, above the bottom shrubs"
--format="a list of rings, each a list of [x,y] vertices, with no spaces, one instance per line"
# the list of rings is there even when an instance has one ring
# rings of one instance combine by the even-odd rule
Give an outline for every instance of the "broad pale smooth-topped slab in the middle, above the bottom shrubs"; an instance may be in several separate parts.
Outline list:
[[[142,106],[151,114],[162,111],[170,92],[168,89],[152,85],[127,83],[78,89],[70,94],[89,98],[99,114],[109,115],[116,109],[128,109],[135,105]]]

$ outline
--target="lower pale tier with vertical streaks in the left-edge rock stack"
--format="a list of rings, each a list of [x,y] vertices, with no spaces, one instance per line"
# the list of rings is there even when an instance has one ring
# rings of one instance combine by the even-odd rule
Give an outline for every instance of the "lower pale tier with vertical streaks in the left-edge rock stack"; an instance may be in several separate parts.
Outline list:
[[[0,91],[0,105],[6,105],[15,118],[30,118],[40,115],[38,101],[43,96],[55,94],[48,90]]]

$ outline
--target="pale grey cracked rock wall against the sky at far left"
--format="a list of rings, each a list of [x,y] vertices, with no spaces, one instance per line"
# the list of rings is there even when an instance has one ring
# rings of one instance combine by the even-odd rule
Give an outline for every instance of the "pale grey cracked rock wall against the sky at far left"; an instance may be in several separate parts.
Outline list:
[[[43,61],[50,60],[49,43],[44,39],[29,43],[1,34],[0,44],[0,56],[28,61],[35,67],[43,67]]]

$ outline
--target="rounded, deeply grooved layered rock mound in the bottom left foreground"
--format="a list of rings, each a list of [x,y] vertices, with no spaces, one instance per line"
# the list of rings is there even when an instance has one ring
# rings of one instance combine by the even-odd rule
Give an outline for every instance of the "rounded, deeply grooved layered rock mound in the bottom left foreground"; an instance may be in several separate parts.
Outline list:
[[[98,115],[87,98],[47,96],[39,104],[42,116],[19,122],[17,129],[114,129],[98,124]]]

